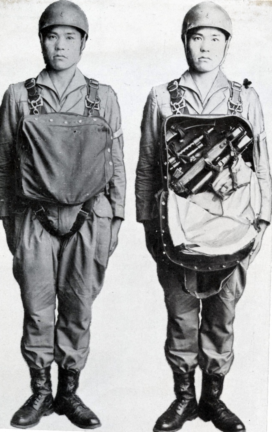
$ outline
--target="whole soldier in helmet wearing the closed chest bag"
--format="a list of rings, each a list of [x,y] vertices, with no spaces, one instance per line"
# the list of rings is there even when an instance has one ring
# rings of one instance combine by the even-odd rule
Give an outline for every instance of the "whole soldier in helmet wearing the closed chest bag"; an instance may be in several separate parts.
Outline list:
[[[120,109],[110,86],[76,67],[88,38],[79,6],[49,5],[39,36],[46,69],[9,86],[0,108],[0,216],[21,289],[21,349],[33,391],[11,425],[32,427],[55,411],[93,429],[101,423],[76,389],[89,353],[92,303],[124,216]]]

